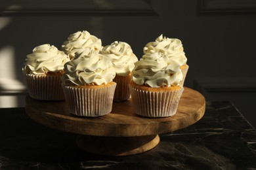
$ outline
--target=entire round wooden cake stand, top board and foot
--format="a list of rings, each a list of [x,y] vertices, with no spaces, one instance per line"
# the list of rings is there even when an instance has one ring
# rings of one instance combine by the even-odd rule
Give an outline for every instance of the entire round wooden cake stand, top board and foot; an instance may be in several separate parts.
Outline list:
[[[168,118],[145,118],[133,112],[131,100],[114,102],[112,112],[98,118],[74,116],[66,101],[40,101],[26,97],[26,112],[44,126],[79,134],[77,146],[109,156],[139,154],[154,148],[158,134],[190,126],[205,112],[203,95],[184,88],[177,113]]]

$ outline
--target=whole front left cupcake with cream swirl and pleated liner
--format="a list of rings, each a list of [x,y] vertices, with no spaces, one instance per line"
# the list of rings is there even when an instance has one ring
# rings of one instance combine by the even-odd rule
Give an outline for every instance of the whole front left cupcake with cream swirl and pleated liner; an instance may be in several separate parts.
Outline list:
[[[98,117],[112,110],[116,72],[110,59],[95,50],[79,50],[64,65],[62,88],[69,112]]]

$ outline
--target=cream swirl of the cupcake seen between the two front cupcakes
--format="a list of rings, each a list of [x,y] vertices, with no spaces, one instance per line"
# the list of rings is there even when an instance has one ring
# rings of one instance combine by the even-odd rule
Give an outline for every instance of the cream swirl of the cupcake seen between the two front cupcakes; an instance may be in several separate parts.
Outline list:
[[[133,54],[131,46],[121,41],[115,41],[108,46],[104,46],[100,54],[112,61],[116,75],[119,76],[129,75],[135,67],[134,63],[138,61],[138,58]]]

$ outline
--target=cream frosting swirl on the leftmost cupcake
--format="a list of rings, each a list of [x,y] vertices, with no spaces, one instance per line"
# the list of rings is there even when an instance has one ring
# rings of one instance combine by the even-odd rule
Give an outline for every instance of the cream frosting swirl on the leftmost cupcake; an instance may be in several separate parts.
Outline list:
[[[28,54],[22,70],[26,74],[45,75],[45,73],[58,73],[64,69],[64,63],[70,61],[64,52],[50,44],[42,44],[33,48]]]

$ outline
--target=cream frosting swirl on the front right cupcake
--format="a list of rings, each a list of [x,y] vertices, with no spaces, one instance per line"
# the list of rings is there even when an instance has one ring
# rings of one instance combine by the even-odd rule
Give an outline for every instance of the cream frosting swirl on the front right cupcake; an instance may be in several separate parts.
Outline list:
[[[132,80],[136,84],[152,88],[179,86],[182,80],[179,63],[171,61],[160,52],[148,52],[135,63]]]

